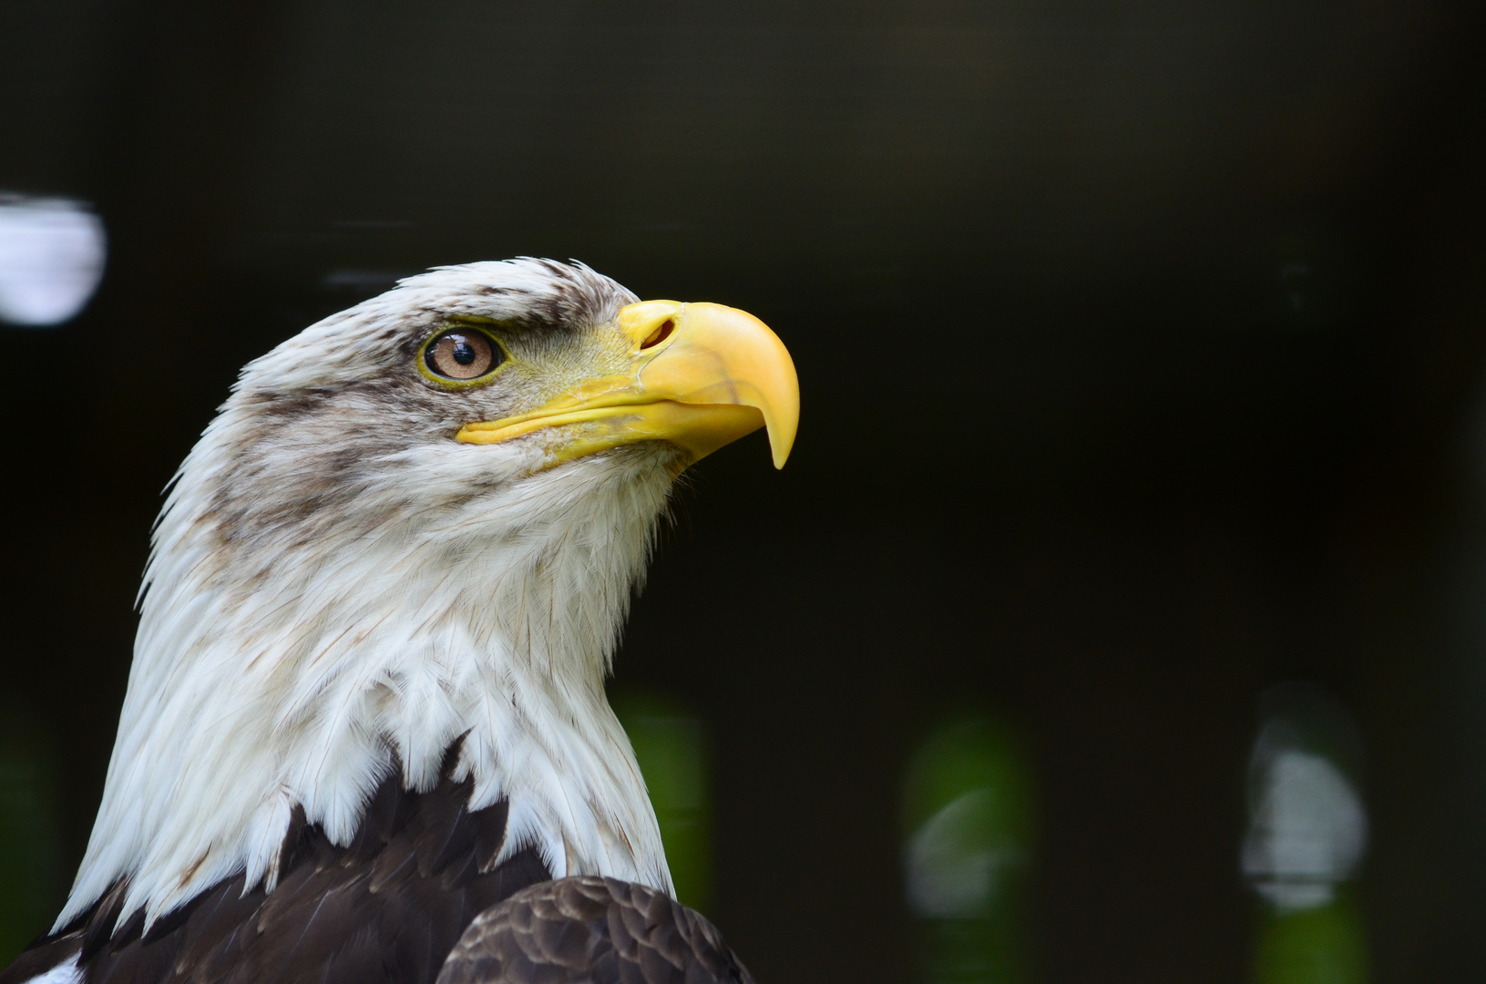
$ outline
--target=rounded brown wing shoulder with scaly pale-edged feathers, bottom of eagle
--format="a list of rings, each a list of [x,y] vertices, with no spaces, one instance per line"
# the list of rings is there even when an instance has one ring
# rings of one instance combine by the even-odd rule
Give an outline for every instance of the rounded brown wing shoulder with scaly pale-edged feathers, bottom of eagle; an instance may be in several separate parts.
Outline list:
[[[698,913],[642,884],[560,878],[481,913],[438,984],[753,984]]]

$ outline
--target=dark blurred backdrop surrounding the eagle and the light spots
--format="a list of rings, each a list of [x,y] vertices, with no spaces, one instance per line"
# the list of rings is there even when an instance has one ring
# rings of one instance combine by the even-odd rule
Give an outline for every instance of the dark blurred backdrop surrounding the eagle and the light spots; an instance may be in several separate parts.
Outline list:
[[[954,913],[914,895],[912,776],[955,719],[1019,757],[976,773],[1024,800],[996,980],[1342,980],[1266,963],[1331,910],[1244,847],[1290,816],[1256,736],[1297,681],[1366,810],[1315,875],[1342,977],[1482,980],[1482,13],[10,0],[0,192],[89,204],[108,260],[0,327],[7,953],[82,855],[159,493],[238,367],[536,254],[746,308],[799,369],[788,468],[694,470],[617,681],[706,730],[707,908],[759,981],[923,977]]]

